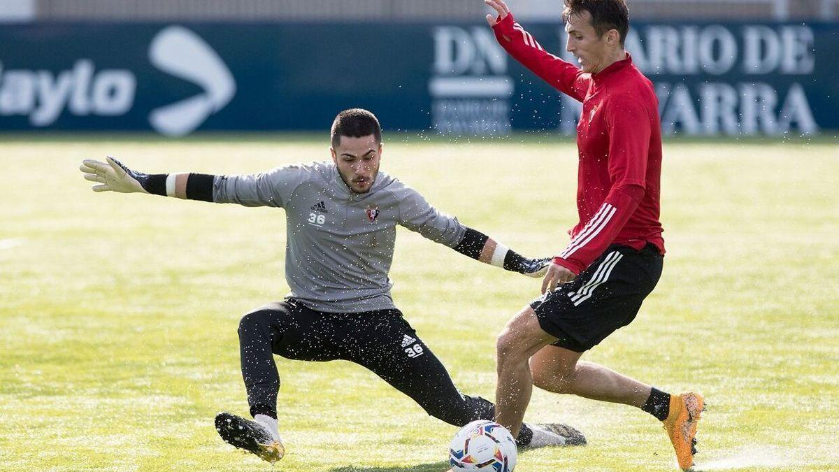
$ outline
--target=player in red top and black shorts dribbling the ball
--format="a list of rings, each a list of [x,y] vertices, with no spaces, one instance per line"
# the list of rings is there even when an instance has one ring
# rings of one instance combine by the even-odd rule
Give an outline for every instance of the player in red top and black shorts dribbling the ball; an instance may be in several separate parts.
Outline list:
[[[498,43],[530,71],[582,102],[577,126],[580,222],[557,254],[542,296],[498,336],[497,421],[515,435],[531,385],[637,406],[664,422],[682,469],[693,465],[703,399],[670,395],[591,362],[586,350],[632,322],[661,275],[661,132],[652,83],[623,49],[624,0],[565,0],[567,50],[580,68],[546,52],[503,0],[485,0]]]

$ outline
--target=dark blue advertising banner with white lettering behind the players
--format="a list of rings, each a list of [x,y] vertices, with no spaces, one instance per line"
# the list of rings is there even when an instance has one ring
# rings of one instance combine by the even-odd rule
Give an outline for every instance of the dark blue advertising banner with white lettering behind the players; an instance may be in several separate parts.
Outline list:
[[[562,24],[525,27],[564,54]],[[626,46],[666,134],[839,129],[839,24],[635,24]],[[580,113],[486,24],[0,29],[2,130],[324,131],[351,107],[388,129],[467,135],[573,134]]]

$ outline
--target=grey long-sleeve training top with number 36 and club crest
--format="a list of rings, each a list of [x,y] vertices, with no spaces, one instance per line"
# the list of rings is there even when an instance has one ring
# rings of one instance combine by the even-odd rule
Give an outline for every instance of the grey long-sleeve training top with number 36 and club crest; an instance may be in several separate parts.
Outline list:
[[[320,312],[394,308],[388,271],[397,224],[451,248],[466,232],[457,218],[381,171],[370,191],[352,192],[331,162],[216,176],[213,200],[285,209],[289,296]]]

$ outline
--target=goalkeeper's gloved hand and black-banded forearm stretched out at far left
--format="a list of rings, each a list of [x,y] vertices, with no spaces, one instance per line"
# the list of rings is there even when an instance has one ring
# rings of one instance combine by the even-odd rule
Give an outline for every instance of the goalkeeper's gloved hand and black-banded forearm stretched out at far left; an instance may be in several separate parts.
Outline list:
[[[120,193],[151,193],[164,197],[189,198],[212,202],[213,181],[216,176],[206,174],[144,174],[131,170],[122,162],[108,156],[107,162],[84,160],[79,170],[85,179],[96,182],[93,191]]]

